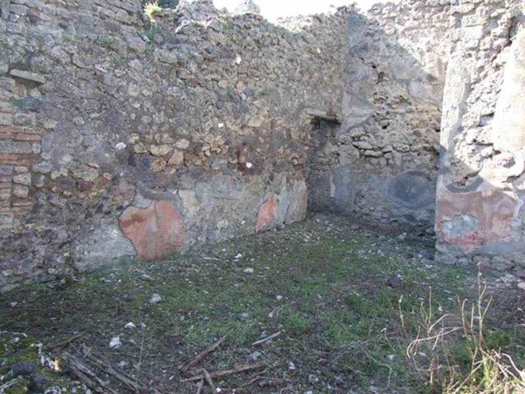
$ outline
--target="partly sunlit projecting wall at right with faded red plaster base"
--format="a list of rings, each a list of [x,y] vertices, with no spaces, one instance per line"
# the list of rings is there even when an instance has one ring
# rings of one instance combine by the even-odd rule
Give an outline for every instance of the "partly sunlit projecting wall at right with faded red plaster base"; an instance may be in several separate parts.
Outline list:
[[[525,28],[521,1],[458,2],[442,121],[440,258],[525,277]]]

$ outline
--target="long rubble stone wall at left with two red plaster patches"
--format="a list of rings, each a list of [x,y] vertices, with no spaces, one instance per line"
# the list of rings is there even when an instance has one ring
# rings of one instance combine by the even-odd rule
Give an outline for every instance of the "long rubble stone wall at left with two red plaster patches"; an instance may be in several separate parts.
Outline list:
[[[0,287],[302,219],[348,11],[300,31],[184,3],[3,0]]]

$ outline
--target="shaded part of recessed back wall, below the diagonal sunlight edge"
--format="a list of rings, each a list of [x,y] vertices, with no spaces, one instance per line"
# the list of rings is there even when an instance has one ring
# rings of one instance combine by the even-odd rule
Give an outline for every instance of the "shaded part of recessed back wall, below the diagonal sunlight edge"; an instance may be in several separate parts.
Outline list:
[[[444,67],[429,74],[362,15],[349,18],[347,33],[343,121],[317,130],[309,209],[430,232]]]

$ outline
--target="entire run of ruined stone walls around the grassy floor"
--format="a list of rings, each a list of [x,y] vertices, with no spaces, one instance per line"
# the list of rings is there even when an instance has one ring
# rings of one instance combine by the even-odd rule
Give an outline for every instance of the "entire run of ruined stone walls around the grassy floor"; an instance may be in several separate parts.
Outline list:
[[[437,217],[443,260],[525,276],[523,23],[521,0],[287,27],[210,0],[153,23],[139,0],[0,0],[0,290],[273,229],[307,201]]]

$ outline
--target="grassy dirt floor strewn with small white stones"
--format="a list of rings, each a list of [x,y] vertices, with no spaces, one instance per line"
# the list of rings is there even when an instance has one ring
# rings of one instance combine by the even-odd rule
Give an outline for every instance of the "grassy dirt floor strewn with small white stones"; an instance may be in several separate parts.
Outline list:
[[[525,292],[501,274],[483,274],[495,295],[486,340],[523,367]],[[477,294],[477,270],[436,263],[427,236],[311,214],[281,230],[160,261],[125,261],[2,296],[0,387],[14,378],[16,362],[45,362],[0,392],[86,392],[62,381],[77,379],[63,351],[87,364],[93,361],[86,353],[97,355],[143,387],[132,390],[98,370],[107,384],[101,392],[195,393],[198,381],[181,380],[201,368],[213,375],[246,364],[257,368],[213,378],[216,391],[439,392],[406,356],[422,327],[421,305],[432,305],[438,318],[457,314],[458,299],[475,301]],[[226,334],[193,368],[178,370]],[[468,364],[464,345],[453,346],[454,362]],[[420,353],[424,365],[430,356]],[[35,376],[44,377],[35,382]]]

